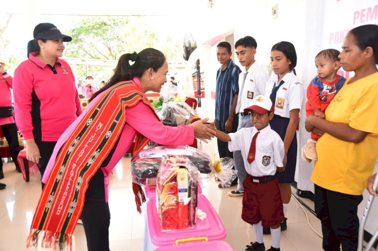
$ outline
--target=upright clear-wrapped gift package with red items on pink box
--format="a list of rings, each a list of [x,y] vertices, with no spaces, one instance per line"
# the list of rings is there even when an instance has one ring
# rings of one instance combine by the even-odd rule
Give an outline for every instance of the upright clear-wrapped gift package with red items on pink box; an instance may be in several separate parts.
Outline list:
[[[156,179],[157,209],[162,231],[194,227],[198,174],[187,158],[163,160]]]

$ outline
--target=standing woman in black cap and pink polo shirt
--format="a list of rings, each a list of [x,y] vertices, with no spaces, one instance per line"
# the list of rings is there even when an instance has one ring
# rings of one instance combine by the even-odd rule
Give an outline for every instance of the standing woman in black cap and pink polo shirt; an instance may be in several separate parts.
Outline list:
[[[28,60],[15,71],[13,92],[17,126],[27,159],[39,163],[41,177],[59,136],[82,113],[75,77],[59,59],[71,37],[50,23],[34,28]]]

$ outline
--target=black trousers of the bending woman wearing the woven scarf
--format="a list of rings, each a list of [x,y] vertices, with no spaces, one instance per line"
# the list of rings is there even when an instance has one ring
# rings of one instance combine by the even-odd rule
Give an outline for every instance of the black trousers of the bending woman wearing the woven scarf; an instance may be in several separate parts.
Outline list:
[[[80,218],[83,221],[88,251],[110,250],[110,210],[105,202],[104,174],[101,169],[89,181]]]

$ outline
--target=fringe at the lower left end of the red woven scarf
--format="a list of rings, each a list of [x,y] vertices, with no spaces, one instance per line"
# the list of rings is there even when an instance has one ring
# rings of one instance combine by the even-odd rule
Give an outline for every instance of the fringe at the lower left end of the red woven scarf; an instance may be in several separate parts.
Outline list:
[[[61,235],[57,232],[52,231],[42,231],[40,229],[30,229],[28,240],[26,242],[26,247],[38,247],[38,240],[42,240],[41,246],[43,248],[54,248],[56,249],[56,243],[58,240],[59,250],[69,250],[72,251],[72,234]]]

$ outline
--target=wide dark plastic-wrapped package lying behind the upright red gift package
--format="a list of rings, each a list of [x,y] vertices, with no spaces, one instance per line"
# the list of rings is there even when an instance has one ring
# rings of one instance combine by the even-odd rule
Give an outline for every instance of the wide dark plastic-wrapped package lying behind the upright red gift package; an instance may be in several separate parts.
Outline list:
[[[152,146],[143,149],[131,160],[133,182],[146,185],[148,178],[157,176],[163,157],[187,157],[201,174],[211,174],[214,170],[209,154],[190,146]]]

